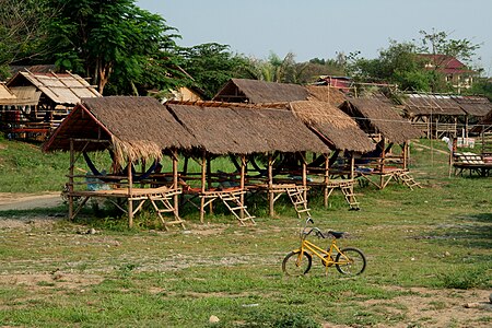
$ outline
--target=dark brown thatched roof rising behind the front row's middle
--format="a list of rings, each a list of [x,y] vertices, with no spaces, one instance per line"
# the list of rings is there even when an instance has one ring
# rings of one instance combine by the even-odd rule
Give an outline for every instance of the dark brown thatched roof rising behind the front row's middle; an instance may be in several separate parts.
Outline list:
[[[229,103],[281,103],[307,99],[307,90],[297,84],[231,79],[213,97]]]

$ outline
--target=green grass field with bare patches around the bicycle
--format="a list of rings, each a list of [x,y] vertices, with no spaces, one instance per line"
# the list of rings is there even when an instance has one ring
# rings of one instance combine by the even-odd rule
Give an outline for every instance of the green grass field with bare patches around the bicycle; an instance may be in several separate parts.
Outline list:
[[[8,172],[15,172],[8,164],[13,154],[35,157],[24,153],[37,152],[15,142],[0,147],[0,164]],[[444,150],[433,144],[438,147]],[[31,172],[59,165],[63,184],[66,155],[39,156],[42,164]],[[316,225],[350,232],[342,245],[367,257],[366,271],[350,279],[335,268],[326,277],[317,260],[306,277],[282,274],[281,261],[297,246],[301,227],[285,199],[276,207],[277,219],[266,216],[265,200],[250,204],[258,216],[253,227],[237,226],[220,208],[202,225],[196,210],[188,209],[189,232],[162,232],[150,215],[139,216],[128,230],[125,218],[110,212],[96,216],[87,210],[77,222],[49,225],[36,218],[66,209],[0,212],[0,221],[34,220],[0,225],[0,326],[430,326],[434,315],[423,311],[414,317],[410,309],[415,304],[402,300],[417,297],[424,309],[447,314],[450,305],[436,293],[467,303],[475,300],[465,295],[492,288],[492,178],[448,177],[446,160],[412,144],[411,169],[424,188],[356,188],[361,211],[348,211],[338,192],[329,209],[313,198]],[[36,190],[56,190],[48,186],[58,178],[54,174]],[[9,184],[10,191],[25,191]],[[91,227],[97,233],[86,234]],[[212,315],[218,324],[209,324]],[[487,327],[491,321],[483,313],[446,323]]]

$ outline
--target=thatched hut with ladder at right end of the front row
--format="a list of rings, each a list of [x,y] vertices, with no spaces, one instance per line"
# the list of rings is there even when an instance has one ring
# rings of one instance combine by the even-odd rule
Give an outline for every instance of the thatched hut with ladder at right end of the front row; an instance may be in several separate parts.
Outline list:
[[[373,152],[359,159],[358,174],[363,177],[379,175],[378,188],[384,188],[391,178],[401,179],[410,188],[417,185],[408,175],[408,144],[410,139],[419,138],[421,131],[399,116],[388,103],[377,98],[351,98],[341,109],[355,118],[359,126],[376,142]],[[394,144],[401,147],[400,154],[393,154]],[[356,160],[358,164],[358,160]]]

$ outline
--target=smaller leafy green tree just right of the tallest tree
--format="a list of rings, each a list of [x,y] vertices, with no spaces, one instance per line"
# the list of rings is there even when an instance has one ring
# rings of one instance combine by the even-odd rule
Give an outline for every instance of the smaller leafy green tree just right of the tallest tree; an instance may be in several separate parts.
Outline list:
[[[231,78],[251,78],[250,61],[229,51],[227,45],[216,43],[183,48],[183,69],[192,77],[192,84],[200,87],[208,98]]]

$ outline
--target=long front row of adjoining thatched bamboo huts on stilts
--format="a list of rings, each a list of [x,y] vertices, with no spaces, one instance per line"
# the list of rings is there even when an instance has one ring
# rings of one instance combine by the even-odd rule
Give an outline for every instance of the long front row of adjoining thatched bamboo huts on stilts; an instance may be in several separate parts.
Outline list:
[[[246,197],[256,192],[267,195],[271,214],[284,194],[298,214],[308,211],[309,189],[320,190],[327,202],[331,191],[340,188],[350,207],[358,209],[355,178],[366,178],[379,188],[391,179],[408,178],[408,141],[419,136],[378,99],[345,99],[328,86],[231,80],[211,102],[82,98],[44,150],[71,154],[70,218],[90,198],[104,197],[126,203],[115,201],[128,213],[130,225],[133,215],[151,203],[168,226],[184,223],[183,201],[196,200],[201,221],[207,208],[222,201],[246,224],[254,222]],[[399,150],[393,151],[394,145]],[[93,152],[110,155],[107,174],[90,162]],[[230,159],[234,169],[214,168],[218,157]],[[82,159],[89,161],[89,176],[75,169]],[[156,169],[164,160],[172,163],[166,166],[172,167],[169,172]],[[179,169],[178,161],[185,162]],[[189,161],[197,162],[200,171],[188,171]],[[101,188],[87,188],[94,184]],[[75,203],[75,198],[81,202]]]

